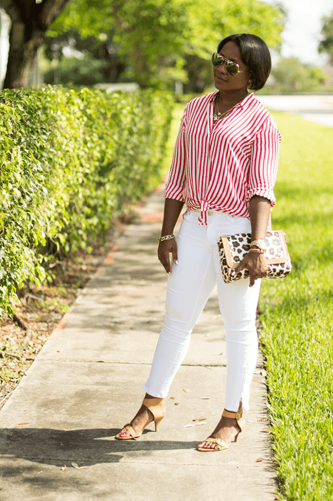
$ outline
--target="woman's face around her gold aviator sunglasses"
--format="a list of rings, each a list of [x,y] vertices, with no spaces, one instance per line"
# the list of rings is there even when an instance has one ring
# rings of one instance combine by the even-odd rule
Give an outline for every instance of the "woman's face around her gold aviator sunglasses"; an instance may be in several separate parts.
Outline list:
[[[225,64],[220,66],[213,66],[214,71],[214,84],[216,89],[221,91],[236,91],[247,90],[249,86],[250,75],[247,67],[244,65],[240,56],[240,50],[235,42],[227,42],[219,54],[229,61],[237,63],[239,66],[239,73],[235,77],[228,75]]]

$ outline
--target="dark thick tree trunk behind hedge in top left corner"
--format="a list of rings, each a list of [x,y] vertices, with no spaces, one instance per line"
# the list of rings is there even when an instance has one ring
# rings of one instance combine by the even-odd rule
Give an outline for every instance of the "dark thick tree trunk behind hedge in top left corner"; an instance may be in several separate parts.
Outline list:
[[[38,49],[70,0],[1,0],[12,20],[4,87],[26,87]]]

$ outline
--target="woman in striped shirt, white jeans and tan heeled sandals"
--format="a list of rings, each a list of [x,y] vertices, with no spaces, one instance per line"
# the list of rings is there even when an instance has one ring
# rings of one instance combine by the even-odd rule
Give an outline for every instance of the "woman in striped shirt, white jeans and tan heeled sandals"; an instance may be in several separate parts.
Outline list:
[[[192,329],[215,284],[227,346],[226,397],[222,417],[200,451],[218,451],[236,441],[245,425],[249,387],[257,359],[255,327],[270,209],[275,203],[280,134],[273,118],[248,89],[261,89],[270,72],[270,54],[257,36],[232,35],[212,57],[217,92],[185,107],[165,189],[158,257],[169,274],[166,315],[157,343],[146,396],[131,423],[116,438],[142,434],[165,415],[163,398],[180,367]],[[173,228],[183,204],[178,233]],[[217,239],[251,232],[251,247],[238,264],[249,278],[225,284]],[[170,266],[170,253],[173,266]]]

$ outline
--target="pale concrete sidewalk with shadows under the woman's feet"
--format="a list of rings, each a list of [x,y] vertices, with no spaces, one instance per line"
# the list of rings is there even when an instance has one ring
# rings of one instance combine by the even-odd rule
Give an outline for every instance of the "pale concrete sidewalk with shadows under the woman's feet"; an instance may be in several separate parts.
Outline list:
[[[167,276],[156,256],[162,210],[160,190],[1,409],[1,501],[199,501],[207,495],[273,501],[270,442],[261,432],[268,426],[260,421],[266,401],[261,358],[237,443],[216,453],[195,450],[223,409],[225,342],[215,292],[194,329],[158,433],[151,424],[139,440],[114,439],[141,404],[163,322]],[[197,418],[207,418],[206,424],[185,427]]]

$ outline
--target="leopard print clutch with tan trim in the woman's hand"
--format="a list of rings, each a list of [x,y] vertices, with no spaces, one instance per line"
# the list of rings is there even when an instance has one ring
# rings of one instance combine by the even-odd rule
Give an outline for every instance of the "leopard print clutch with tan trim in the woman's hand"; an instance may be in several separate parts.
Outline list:
[[[251,233],[224,235],[217,241],[223,280],[226,284],[249,277],[247,270],[234,275],[233,269],[250,249]],[[268,276],[277,279],[286,277],[291,272],[291,261],[283,231],[267,231],[265,258],[268,263]]]

